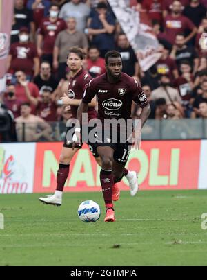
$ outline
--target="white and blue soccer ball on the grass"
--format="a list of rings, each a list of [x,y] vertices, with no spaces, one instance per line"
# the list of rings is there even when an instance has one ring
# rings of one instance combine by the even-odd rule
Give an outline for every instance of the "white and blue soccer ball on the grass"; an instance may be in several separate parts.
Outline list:
[[[82,202],[78,209],[78,216],[82,222],[97,222],[101,216],[99,204],[92,200]]]

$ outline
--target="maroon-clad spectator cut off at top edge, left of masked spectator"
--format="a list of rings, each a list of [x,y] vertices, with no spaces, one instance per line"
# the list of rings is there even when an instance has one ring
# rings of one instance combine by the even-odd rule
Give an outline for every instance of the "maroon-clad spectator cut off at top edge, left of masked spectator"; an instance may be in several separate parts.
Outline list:
[[[49,0],[28,0],[27,8],[32,11],[35,28],[39,28],[39,24],[43,17],[47,17],[50,10]]]

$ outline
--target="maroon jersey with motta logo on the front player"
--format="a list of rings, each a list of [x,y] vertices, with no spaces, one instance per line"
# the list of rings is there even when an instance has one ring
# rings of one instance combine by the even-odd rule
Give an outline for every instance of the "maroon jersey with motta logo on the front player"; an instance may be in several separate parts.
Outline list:
[[[116,83],[107,80],[107,74],[103,74],[90,81],[83,103],[90,103],[97,95],[99,103],[98,118],[104,119],[131,119],[132,101],[141,108],[148,105],[148,98],[134,78],[122,73]]]

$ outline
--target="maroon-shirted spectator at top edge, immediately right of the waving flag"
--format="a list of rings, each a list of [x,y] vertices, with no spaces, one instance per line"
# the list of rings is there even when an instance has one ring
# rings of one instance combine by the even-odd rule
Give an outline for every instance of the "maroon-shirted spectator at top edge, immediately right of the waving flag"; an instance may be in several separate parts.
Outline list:
[[[148,13],[151,20],[157,20],[162,24],[162,1],[163,0],[144,0],[142,8]]]

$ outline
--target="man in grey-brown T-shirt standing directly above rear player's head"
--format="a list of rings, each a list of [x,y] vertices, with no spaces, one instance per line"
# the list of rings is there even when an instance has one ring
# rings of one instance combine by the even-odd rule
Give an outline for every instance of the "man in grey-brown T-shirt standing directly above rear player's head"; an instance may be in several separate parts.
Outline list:
[[[66,76],[66,61],[68,50],[72,46],[78,46],[87,53],[88,40],[85,34],[76,29],[77,22],[74,17],[70,17],[67,21],[68,28],[59,35],[55,41],[53,67],[58,69],[59,79]]]

